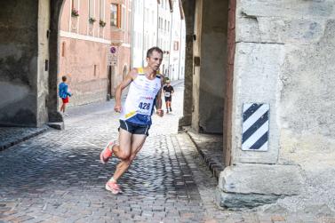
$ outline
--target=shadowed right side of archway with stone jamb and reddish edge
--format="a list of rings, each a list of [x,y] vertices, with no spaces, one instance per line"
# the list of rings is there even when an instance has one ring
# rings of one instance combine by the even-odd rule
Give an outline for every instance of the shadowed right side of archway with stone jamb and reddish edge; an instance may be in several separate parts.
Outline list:
[[[190,125],[197,132],[221,134],[222,163],[229,165],[235,1],[195,0],[182,4],[187,38],[184,116],[179,126]]]

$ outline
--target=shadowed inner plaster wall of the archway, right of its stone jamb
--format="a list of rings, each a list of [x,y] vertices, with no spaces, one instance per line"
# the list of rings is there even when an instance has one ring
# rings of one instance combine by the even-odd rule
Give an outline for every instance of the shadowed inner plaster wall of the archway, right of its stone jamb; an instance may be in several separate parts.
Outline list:
[[[208,133],[222,133],[227,68],[227,12],[228,1],[210,0],[203,4],[199,126]]]

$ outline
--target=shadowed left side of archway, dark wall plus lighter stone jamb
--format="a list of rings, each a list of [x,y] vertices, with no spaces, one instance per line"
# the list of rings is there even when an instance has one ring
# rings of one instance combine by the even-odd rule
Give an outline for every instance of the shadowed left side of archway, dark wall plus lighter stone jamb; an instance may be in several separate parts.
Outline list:
[[[0,89],[7,96],[0,98],[0,125],[62,122],[57,73],[63,2],[13,0],[1,7]]]

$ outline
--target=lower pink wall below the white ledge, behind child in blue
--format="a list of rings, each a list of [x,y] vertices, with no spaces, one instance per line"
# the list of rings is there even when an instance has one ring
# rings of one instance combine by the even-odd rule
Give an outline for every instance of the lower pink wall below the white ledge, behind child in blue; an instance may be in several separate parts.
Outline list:
[[[65,53],[60,52],[59,80],[68,76],[73,93],[68,106],[106,100],[109,45],[67,37],[60,37],[60,43]]]

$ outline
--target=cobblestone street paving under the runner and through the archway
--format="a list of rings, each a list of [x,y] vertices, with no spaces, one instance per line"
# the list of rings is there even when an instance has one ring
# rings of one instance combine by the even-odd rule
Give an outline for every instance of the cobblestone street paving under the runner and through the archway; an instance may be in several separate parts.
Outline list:
[[[106,165],[99,162],[101,148],[117,136],[113,101],[71,108],[64,131],[49,130],[1,151],[0,222],[315,220],[305,215],[219,209],[214,202],[216,178],[187,134],[177,132],[182,85],[175,90],[172,114],[154,116],[147,142],[120,179],[123,195],[104,189],[116,158]],[[311,221],[305,221],[308,218]]]

